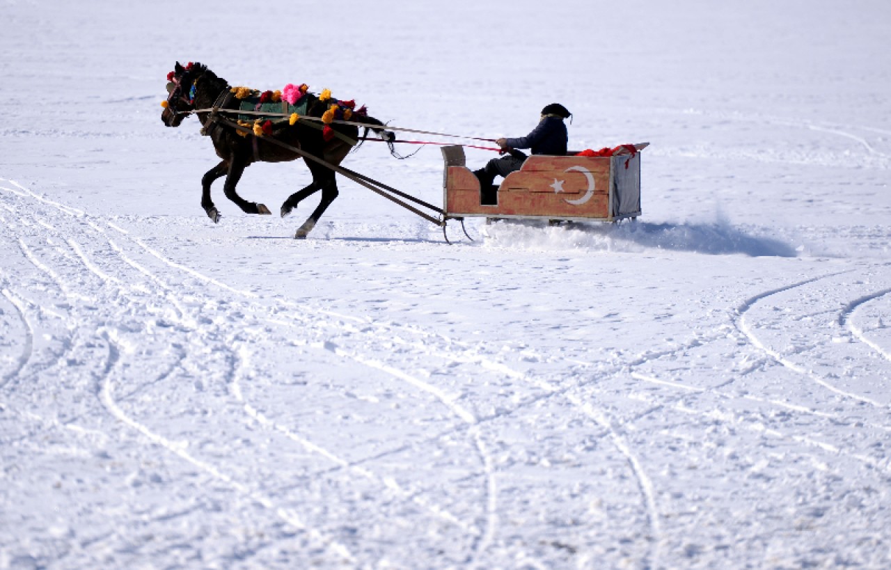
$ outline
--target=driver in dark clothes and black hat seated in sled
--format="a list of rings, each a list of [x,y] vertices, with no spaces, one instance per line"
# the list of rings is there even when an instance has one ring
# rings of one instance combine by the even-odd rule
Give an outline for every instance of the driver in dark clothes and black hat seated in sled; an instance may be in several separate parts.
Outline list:
[[[551,103],[542,110],[538,125],[526,136],[516,139],[500,138],[495,141],[501,147],[504,156],[491,159],[486,167],[474,171],[479,179],[480,202],[486,205],[498,203],[498,187],[493,184],[495,176],[506,176],[523,166],[526,154],[517,149],[531,149],[532,154],[549,154],[565,156],[568,134],[563,119],[572,116],[560,103]]]

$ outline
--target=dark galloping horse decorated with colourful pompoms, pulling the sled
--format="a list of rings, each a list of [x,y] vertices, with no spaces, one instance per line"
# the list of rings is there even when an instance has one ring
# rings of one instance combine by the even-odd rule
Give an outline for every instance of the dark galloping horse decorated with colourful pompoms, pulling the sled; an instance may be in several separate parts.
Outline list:
[[[161,120],[165,126],[176,127],[183,122],[185,117],[196,110],[208,110],[213,107],[238,110],[241,102],[236,96],[230,95],[233,91],[224,78],[217,77],[207,66],[195,62],[183,67],[179,61],[176,61],[174,70],[168,74],[168,99],[166,103],[162,103],[164,110],[161,113]],[[305,89],[301,89],[301,91],[305,92],[303,97],[308,98],[305,101],[301,99],[301,102],[306,102],[304,116],[322,118],[326,110],[331,109],[333,112],[329,98],[316,96],[306,92]],[[388,142],[390,151],[392,151],[392,141],[396,137],[384,128],[385,125],[380,120],[369,117],[364,112],[364,108],[352,114],[365,126],[363,140],[371,128],[380,138]],[[245,134],[243,130],[240,132],[233,126],[231,120],[208,117],[211,115],[208,111],[198,112],[197,115],[203,125],[201,134],[210,137],[217,156],[221,159],[216,167],[211,168],[201,177],[201,208],[204,208],[208,217],[215,224],[220,220],[220,213],[214,205],[213,199],[210,198],[210,186],[224,175],[223,191],[226,198],[231,199],[243,212],[259,215],[272,214],[264,204],[242,199],[235,190],[244,169],[254,162],[284,162],[300,158],[298,153],[269,142],[267,137],[272,136],[280,142],[297,147],[335,167],[339,166],[347,157],[347,153],[352,150],[353,145],[359,139],[359,129],[355,125],[337,123],[322,127],[317,122],[308,120],[297,120],[296,122],[282,120],[274,125],[271,122],[267,123],[265,132]],[[233,117],[228,113],[225,116]],[[313,181],[285,199],[281,208],[281,216],[289,216],[302,199],[317,191],[322,191],[322,199],[318,207],[294,235],[298,240],[307,237],[324,211],[331,206],[331,202],[339,194],[334,171],[331,168],[325,167],[315,160],[307,160],[306,163],[313,175]]]

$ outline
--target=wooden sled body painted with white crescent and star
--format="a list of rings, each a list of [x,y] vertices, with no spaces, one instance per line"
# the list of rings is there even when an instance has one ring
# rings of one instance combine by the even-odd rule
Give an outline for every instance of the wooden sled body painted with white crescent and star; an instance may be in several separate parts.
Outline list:
[[[504,178],[495,204],[484,204],[479,181],[465,166],[461,146],[443,147],[446,217],[498,217],[603,221],[641,215],[642,142],[612,156],[544,156],[526,159]],[[634,151],[632,151],[634,149]],[[587,154],[595,154],[589,152]]]

